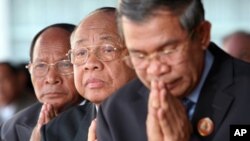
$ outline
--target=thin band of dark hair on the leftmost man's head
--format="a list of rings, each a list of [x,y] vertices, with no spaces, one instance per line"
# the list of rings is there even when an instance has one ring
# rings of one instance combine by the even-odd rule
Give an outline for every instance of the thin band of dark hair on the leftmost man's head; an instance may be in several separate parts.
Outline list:
[[[68,23],[57,23],[57,24],[52,24],[52,25],[49,25],[47,27],[45,27],[44,29],[42,29],[41,31],[39,31],[35,37],[33,38],[32,42],[31,42],[31,47],[30,47],[30,61],[32,62],[33,61],[33,52],[34,52],[34,47],[35,47],[35,44],[36,44],[36,41],[38,39],[38,37],[44,32],[46,31],[47,29],[49,28],[54,28],[54,27],[58,27],[58,28],[61,28],[61,29],[64,29],[70,33],[72,33],[75,29],[75,25],[73,24],[68,24]]]

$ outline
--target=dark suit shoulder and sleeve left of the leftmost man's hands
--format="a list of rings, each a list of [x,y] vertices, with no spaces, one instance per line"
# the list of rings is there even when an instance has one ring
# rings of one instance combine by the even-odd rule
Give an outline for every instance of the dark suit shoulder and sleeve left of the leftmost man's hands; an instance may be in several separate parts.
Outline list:
[[[13,118],[2,125],[2,141],[29,141],[42,104],[35,103],[18,112]]]

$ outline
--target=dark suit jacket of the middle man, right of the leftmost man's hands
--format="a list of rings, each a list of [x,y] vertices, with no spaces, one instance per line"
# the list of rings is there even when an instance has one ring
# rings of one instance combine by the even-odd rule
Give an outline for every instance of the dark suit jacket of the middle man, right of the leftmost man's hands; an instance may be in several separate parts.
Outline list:
[[[88,129],[94,118],[94,104],[87,102],[73,107],[42,127],[42,141],[87,141]]]

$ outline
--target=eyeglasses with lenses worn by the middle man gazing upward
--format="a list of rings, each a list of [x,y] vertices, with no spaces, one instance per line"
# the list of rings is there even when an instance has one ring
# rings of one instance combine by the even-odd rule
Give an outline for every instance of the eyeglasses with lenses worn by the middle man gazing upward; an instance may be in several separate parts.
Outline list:
[[[94,48],[94,49],[90,49]],[[86,63],[90,52],[94,52],[96,58],[100,61],[112,61],[120,57],[121,50],[112,44],[103,44],[98,46],[80,47],[70,50],[67,53],[71,63],[75,65],[83,65]]]

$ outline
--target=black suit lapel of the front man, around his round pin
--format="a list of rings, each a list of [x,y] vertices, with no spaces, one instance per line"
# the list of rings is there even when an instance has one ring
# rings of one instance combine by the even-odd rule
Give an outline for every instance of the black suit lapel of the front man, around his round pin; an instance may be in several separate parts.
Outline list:
[[[214,55],[213,66],[207,76],[201,94],[196,105],[192,119],[194,133],[199,136],[198,122],[209,117],[214,123],[211,135],[203,139],[210,139],[220,127],[223,118],[232,105],[234,97],[227,92],[227,88],[233,83],[233,64],[229,57],[215,45],[209,48]],[[201,136],[199,136],[201,138]]]

